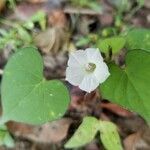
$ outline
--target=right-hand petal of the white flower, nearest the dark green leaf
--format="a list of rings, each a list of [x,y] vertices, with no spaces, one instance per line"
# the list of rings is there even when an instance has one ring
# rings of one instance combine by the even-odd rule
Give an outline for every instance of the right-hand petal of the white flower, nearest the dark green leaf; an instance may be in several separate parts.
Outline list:
[[[106,63],[97,63],[94,75],[99,83],[103,83],[110,75]]]

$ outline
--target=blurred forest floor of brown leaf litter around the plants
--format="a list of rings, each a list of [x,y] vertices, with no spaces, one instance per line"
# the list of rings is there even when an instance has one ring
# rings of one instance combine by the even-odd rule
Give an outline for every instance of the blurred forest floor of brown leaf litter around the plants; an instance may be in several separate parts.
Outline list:
[[[4,48],[0,45],[3,49],[0,52],[0,69],[4,68],[15,48],[29,45],[28,43],[32,41],[31,43],[39,48],[43,56],[45,77],[62,79],[71,95],[68,111],[60,120],[42,126],[8,122],[8,129],[15,140],[15,147],[10,150],[63,150],[64,143],[76,131],[82,118],[88,115],[115,123],[125,150],[150,150],[150,129],[139,115],[102,99],[98,91],[86,94],[64,80],[68,52],[94,45],[99,33],[109,34],[109,28],[116,28],[117,23],[149,28],[150,1],[146,0],[144,6],[132,15],[131,12],[137,4],[134,1],[129,2],[131,7],[124,10],[121,20],[117,20],[116,17],[119,6],[115,6],[112,2],[115,0],[101,0],[99,10],[90,6],[79,7],[67,0],[17,1],[15,6],[9,1],[4,4],[3,1],[0,2],[0,29],[14,30],[13,20],[19,25],[21,21],[28,22],[28,18],[39,10],[46,13],[46,25],[43,18],[39,17],[33,21],[35,27],[30,31],[27,30],[30,35],[26,35],[26,39],[21,37],[19,41],[10,34],[11,38],[20,43],[12,42],[11,38],[8,38]],[[123,29],[119,30],[121,32]],[[32,38],[31,41],[28,40],[29,36]],[[104,148],[95,138],[80,149]],[[9,148],[1,146],[0,150]]]

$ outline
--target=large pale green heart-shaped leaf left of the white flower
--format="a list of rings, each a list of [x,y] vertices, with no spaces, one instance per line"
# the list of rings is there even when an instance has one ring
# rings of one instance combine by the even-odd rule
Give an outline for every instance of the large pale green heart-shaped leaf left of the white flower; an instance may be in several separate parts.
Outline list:
[[[45,123],[60,118],[68,103],[63,83],[44,79],[37,49],[24,48],[10,58],[2,79],[2,122]]]

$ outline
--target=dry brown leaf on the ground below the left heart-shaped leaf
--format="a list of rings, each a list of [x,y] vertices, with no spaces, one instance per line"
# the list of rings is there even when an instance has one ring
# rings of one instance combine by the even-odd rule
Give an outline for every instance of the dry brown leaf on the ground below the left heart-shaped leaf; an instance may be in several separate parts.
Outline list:
[[[69,118],[62,118],[42,126],[30,126],[21,123],[9,123],[12,134],[39,143],[57,143],[67,136],[72,123]]]

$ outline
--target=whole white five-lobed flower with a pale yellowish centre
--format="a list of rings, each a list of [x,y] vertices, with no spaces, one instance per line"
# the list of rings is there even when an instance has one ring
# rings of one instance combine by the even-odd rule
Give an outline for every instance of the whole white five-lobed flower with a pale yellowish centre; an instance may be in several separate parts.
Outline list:
[[[81,90],[91,92],[110,75],[99,49],[87,48],[70,54],[66,80]]]

